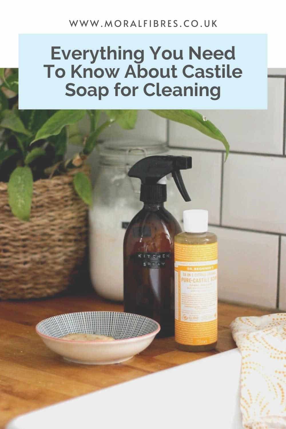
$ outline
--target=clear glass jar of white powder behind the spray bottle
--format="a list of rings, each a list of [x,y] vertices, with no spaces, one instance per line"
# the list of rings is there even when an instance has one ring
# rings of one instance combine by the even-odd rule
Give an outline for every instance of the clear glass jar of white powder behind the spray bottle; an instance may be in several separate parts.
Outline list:
[[[136,140],[102,145],[89,212],[89,245],[92,284],[104,298],[123,301],[124,234],[142,208],[140,180],[129,178],[127,173],[143,157],[166,154],[168,148],[161,142]]]

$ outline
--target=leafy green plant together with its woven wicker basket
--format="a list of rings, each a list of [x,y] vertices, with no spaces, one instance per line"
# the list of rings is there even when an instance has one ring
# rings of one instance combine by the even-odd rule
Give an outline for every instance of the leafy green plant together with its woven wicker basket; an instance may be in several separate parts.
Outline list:
[[[193,110],[153,110],[229,145]],[[82,136],[78,122],[89,117]],[[104,118],[104,119],[103,119]],[[18,69],[0,69],[0,299],[66,289],[84,258],[92,204],[85,162],[113,123],[132,129],[136,110],[20,110]],[[66,159],[69,139],[82,149]]]

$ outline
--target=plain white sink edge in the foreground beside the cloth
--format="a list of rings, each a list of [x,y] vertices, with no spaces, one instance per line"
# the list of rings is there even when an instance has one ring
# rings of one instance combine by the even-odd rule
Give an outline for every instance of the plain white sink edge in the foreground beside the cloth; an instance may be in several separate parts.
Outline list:
[[[146,429],[151,422],[151,428],[242,429],[240,368],[238,349],[217,353],[23,414],[6,429],[89,429],[94,423]]]

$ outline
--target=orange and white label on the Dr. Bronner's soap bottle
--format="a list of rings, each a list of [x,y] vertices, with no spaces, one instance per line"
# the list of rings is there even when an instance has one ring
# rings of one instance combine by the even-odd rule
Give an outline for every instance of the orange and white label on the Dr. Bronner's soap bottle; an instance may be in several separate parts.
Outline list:
[[[175,341],[217,341],[217,243],[175,243]]]

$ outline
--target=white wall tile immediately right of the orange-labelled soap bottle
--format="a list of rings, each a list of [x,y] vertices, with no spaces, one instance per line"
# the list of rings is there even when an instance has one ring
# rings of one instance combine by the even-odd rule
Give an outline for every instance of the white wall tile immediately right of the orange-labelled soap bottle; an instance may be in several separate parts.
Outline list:
[[[276,307],[278,236],[209,227],[218,237],[219,299]]]

